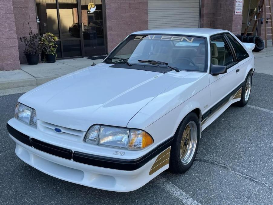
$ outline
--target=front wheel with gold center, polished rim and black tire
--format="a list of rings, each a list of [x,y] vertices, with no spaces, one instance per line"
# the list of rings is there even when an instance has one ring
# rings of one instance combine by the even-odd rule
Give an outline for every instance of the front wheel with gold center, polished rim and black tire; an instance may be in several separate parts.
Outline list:
[[[192,166],[198,149],[199,136],[199,118],[195,113],[189,113],[180,124],[173,140],[170,171],[184,173]]]

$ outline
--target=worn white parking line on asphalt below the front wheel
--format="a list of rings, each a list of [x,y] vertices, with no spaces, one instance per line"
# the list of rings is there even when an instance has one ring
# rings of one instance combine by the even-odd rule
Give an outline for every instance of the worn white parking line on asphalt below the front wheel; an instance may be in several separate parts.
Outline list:
[[[181,201],[185,205],[201,205],[196,200],[192,199],[188,194],[183,190],[176,187],[173,183],[166,180],[163,176],[157,176],[155,180],[158,182],[158,185],[169,192],[173,197]]]

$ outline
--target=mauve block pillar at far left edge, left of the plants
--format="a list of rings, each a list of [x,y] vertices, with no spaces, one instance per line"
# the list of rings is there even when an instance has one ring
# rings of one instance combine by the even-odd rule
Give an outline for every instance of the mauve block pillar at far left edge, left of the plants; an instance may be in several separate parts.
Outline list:
[[[0,71],[20,68],[12,3],[0,0]]]

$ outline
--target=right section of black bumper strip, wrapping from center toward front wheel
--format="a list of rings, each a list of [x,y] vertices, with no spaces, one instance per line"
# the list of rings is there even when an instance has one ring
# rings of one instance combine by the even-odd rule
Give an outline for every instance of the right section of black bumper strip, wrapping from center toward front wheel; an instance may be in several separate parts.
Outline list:
[[[104,168],[110,168],[115,170],[126,170],[126,171],[132,171],[137,170],[140,167],[142,167],[144,164],[149,162],[151,159],[156,157],[158,154],[166,150],[169,146],[172,145],[173,138],[166,140],[160,146],[157,146],[153,150],[151,150],[149,153],[145,154],[144,156],[134,159],[134,160],[124,160],[124,159],[117,159],[113,157],[103,157],[103,156],[97,156],[82,152],[75,151],[73,154],[73,160],[75,162],[88,164],[92,166],[100,166]]]

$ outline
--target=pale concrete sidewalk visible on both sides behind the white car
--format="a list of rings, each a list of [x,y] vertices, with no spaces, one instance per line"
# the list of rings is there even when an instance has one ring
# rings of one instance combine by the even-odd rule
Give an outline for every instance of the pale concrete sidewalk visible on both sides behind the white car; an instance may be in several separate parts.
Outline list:
[[[273,75],[273,47],[268,41],[268,47],[255,55],[255,72]],[[0,71],[0,96],[27,92],[45,82],[63,76],[67,73],[102,62],[103,59],[87,58],[63,59],[55,63],[38,63],[35,66],[21,64],[21,69]]]

